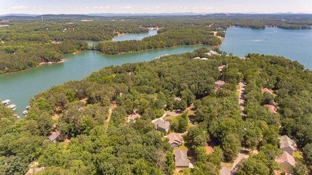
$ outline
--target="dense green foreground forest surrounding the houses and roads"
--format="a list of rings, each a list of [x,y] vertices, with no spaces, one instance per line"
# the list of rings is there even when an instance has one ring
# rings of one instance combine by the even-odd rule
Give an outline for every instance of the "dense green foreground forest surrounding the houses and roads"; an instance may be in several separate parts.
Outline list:
[[[274,158],[281,155],[281,135],[302,152],[293,174],[307,175],[312,170],[312,72],[279,56],[241,59],[207,52],[200,48],[104,67],[31,98],[22,119],[0,105],[0,174],[24,175],[37,162],[45,169],[36,175],[172,175],[173,149],[164,136],[187,131],[183,147],[195,163],[182,175],[219,175],[221,162],[233,162],[242,148],[257,154],[237,165],[237,175],[273,175],[280,169]],[[215,90],[216,80],[225,81],[224,87]],[[236,93],[239,82],[246,84],[245,117]],[[262,88],[273,94],[262,94]],[[277,114],[266,104],[275,104]],[[127,122],[134,111],[141,117]],[[164,111],[184,111],[168,133],[151,122]],[[56,131],[54,143],[47,136]],[[215,143],[212,154],[205,151],[207,142]]]

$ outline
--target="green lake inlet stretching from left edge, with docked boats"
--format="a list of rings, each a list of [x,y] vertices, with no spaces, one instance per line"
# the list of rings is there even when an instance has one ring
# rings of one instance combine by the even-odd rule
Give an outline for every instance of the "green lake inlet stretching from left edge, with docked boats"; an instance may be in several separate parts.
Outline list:
[[[28,100],[36,94],[63,84],[69,80],[80,80],[105,66],[121,65],[126,62],[149,61],[165,54],[193,52],[203,46],[178,46],[174,48],[145,50],[120,55],[102,55],[97,51],[82,51],[64,55],[64,62],[43,64],[20,72],[0,75],[1,100],[11,99],[17,105],[15,113],[22,117]]]

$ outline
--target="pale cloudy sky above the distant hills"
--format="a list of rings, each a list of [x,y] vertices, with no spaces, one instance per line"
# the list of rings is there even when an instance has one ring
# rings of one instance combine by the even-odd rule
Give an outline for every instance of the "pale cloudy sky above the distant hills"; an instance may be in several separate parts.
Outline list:
[[[312,0],[0,0],[0,15],[188,12],[312,14]]]

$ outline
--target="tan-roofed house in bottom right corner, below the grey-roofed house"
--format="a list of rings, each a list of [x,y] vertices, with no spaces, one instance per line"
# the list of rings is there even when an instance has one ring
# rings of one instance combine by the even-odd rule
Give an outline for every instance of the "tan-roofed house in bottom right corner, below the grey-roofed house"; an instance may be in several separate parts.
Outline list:
[[[281,170],[286,173],[292,173],[292,168],[296,163],[294,158],[286,151],[284,151],[281,156],[277,157],[275,161],[281,167]]]

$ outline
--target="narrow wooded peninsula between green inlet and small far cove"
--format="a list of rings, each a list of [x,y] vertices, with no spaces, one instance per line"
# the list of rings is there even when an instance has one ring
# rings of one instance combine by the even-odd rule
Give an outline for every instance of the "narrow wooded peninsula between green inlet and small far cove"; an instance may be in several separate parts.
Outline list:
[[[145,49],[173,47],[177,45],[220,45],[221,39],[211,35],[206,26],[172,26],[157,31],[157,35],[146,37],[141,41],[127,40],[109,43],[98,43],[96,49],[103,54],[120,54]]]

